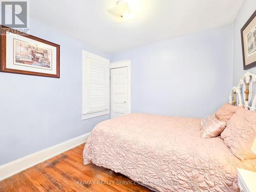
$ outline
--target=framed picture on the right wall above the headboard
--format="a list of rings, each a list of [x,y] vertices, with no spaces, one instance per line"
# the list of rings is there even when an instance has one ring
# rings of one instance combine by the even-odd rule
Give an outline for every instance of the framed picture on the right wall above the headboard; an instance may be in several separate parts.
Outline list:
[[[244,70],[256,66],[256,10],[241,29]]]

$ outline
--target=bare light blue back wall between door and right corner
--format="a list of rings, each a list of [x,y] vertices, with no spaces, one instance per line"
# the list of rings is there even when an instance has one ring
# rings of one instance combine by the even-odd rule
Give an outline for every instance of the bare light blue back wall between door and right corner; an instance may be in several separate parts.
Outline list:
[[[143,37],[141,37],[143,38]],[[114,54],[132,61],[132,112],[213,114],[232,87],[232,26]]]

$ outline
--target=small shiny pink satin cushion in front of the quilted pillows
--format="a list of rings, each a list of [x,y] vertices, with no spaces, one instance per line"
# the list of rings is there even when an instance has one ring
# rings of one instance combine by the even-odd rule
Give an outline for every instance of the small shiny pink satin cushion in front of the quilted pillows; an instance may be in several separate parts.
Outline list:
[[[217,137],[223,132],[226,122],[220,121],[216,114],[204,117],[201,120],[201,137],[212,138]]]

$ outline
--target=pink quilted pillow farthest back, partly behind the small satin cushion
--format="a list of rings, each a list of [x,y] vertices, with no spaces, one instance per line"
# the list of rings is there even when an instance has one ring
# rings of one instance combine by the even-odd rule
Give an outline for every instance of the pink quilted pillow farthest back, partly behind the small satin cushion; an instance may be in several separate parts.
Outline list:
[[[233,116],[234,113],[237,112],[238,109],[241,107],[231,105],[231,104],[224,104],[221,108],[216,112],[216,116],[220,121],[229,121],[229,119]]]

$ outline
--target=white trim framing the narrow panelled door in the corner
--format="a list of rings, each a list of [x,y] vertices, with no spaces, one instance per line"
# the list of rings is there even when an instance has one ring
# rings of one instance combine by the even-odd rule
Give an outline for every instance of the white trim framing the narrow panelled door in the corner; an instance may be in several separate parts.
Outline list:
[[[116,68],[123,68],[127,67],[127,114],[131,113],[131,60],[126,59],[126,60],[120,60],[120,61],[115,61],[110,63],[110,70],[111,69],[116,69]],[[110,104],[112,106],[112,102]],[[110,114],[111,114],[111,119],[112,113],[111,113],[112,107],[110,108]]]

